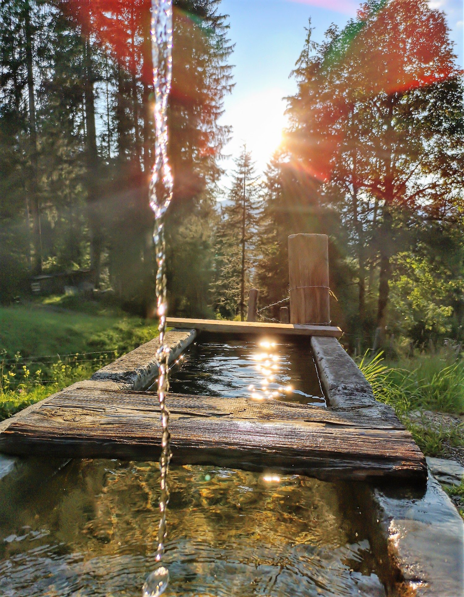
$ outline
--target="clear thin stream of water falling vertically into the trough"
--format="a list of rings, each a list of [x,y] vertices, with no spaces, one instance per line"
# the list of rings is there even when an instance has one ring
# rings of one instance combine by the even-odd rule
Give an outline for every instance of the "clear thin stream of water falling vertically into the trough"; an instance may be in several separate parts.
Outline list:
[[[167,156],[167,103],[171,90],[173,67],[173,3],[172,0],[152,0],[152,59],[153,86],[155,87],[155,164],[150,182],[150,207],[155,213],[155,231],[153,239],[156,247],[156,298],[159,318],[159,378],[158,399],[161,409],[162,451],[159,459],[161,469],[161,496],[159,498],[160,519],[158,526],[158,547],[156,549],[156,568],[146,578],[143,585],[143,597],[157,597],[168,586],[169,573],[161,565],[166,537],[166,509],[169,501],[167,476],[171,460],[170,434],[168,429],[169,411],[165,404],[168,387],[169,347],[165,343],[166,332],[166,272],[164,216],[173,197],[173,175]]]

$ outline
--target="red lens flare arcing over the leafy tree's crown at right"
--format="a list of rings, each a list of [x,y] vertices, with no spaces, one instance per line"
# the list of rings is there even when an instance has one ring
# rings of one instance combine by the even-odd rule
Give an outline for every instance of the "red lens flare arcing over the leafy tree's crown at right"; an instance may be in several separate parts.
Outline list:
[[[364,5],[358,19],[331,42],[308,85],[308,94],[318,97],[311,113],[299,115],[300,123],[309,123],[309,140],[303,126],[301,133],[288,136],[288,149],[303,159],[306,171],[327,181],[346,141],[343,122],[358,101],[401,95],[459,76],[455,59],[443,14],[422,0],[379,2],[376,10]]]

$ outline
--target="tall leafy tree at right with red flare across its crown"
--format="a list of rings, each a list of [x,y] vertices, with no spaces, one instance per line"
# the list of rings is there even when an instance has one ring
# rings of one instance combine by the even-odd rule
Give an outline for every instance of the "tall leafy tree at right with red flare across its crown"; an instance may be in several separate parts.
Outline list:
[[[292,159],[340,211],[358,269],[379,263],[385,330],[392,257],[429,219],[456,214],[462,188],[462,84],[444,15],[422,0],[367,2],[316,46],[308,32],[290,100]]]

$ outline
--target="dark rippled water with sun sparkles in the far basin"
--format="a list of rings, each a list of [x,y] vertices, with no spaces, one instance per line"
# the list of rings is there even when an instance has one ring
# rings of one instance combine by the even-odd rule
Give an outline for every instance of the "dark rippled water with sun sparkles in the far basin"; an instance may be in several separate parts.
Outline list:
[[[170,391],[325,407],[309,340],[202,334],[171,370]]]

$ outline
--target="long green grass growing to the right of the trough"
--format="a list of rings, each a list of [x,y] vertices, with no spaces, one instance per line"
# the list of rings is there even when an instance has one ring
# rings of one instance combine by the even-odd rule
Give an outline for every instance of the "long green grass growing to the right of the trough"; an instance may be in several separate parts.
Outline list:
[[[464,364],[443,349],[435,355],[404,358],[391,367],[382,355],[364,356],[359,368],[377,399],[391,405],[426,456],[442,456],[464,445],[463,425],[431,424],[424,411],[462,414]]]

